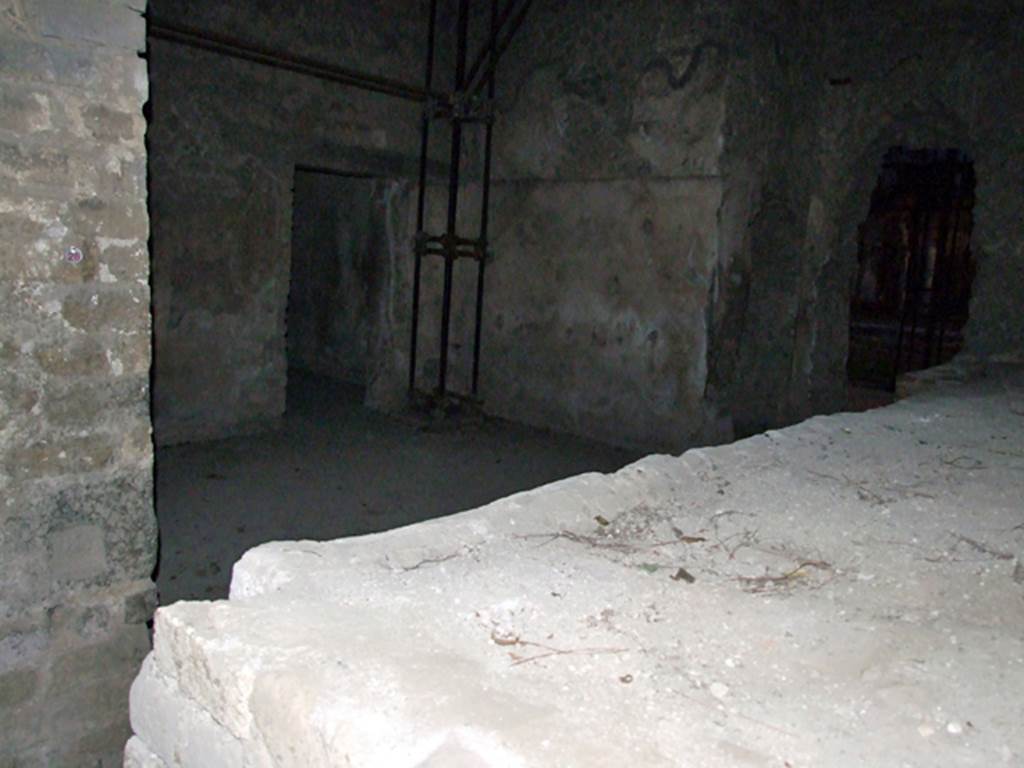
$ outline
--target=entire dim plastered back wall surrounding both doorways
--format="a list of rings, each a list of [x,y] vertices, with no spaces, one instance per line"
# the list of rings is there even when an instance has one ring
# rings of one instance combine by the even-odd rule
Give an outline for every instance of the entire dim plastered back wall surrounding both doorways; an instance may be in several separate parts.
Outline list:
[[[1006,87],[1021,69],[1019,11],[887,7],[538,2],[499,77],[484,410],[676,450],[843,408],[856,225],[882,155],[901,142],[975,158],[970,346],[1019,349],[1021,89]],[[360,67],[419,82],[419,4],[315,19],[308,9],[284,18],[285,9],[168,3],[164,12],[324,55],[335,24],[360,41]],[[483,17],[471,27],[480,32]],[[442,88],[451,42],[439,41]],[[401,407],[419,108],[171,46],[155,46],[154,71],[158,438],[244,431],[281,413],[300,161],[394,184],[366,365],[368,402]],[[435,125],[431,231],[443,221],[443,133]],[[476,229],[479,139],[468,132],[465,236]],[[474,281],[460,263],[450,350],[460,392]],[[439,286],[430,262],[423,389],[436,383]]]

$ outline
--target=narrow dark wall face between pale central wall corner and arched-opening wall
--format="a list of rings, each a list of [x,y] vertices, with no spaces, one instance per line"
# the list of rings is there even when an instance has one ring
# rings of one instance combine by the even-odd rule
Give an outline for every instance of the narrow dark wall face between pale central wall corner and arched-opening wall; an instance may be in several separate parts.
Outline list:
[[[708,396],[750,434],[793,421],[791,369],[813,146],[820,3],[744,4],[732,58]]]

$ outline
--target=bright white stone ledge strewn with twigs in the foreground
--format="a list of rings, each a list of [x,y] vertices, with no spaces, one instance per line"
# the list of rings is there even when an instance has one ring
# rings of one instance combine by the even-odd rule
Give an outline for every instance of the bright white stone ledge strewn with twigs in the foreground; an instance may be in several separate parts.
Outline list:
[[[126,765],[1013,766],[1024,377],[278,542],[157,614]]]

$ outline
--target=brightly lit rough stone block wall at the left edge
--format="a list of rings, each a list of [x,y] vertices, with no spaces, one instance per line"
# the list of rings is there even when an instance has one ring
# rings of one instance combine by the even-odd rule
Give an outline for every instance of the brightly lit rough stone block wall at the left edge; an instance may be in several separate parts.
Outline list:
[[[115,766],[148,649],[144,3],[0,2],[0,765]]]

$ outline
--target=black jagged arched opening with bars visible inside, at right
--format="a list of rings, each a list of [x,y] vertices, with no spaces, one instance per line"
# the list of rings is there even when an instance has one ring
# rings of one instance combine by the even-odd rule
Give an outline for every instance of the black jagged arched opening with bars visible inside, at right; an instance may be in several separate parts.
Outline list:
[[[958,150],[886,153],[858,230],[851,385],[893,391],[901,374],[959,351],[974,278],[974,166]]]

